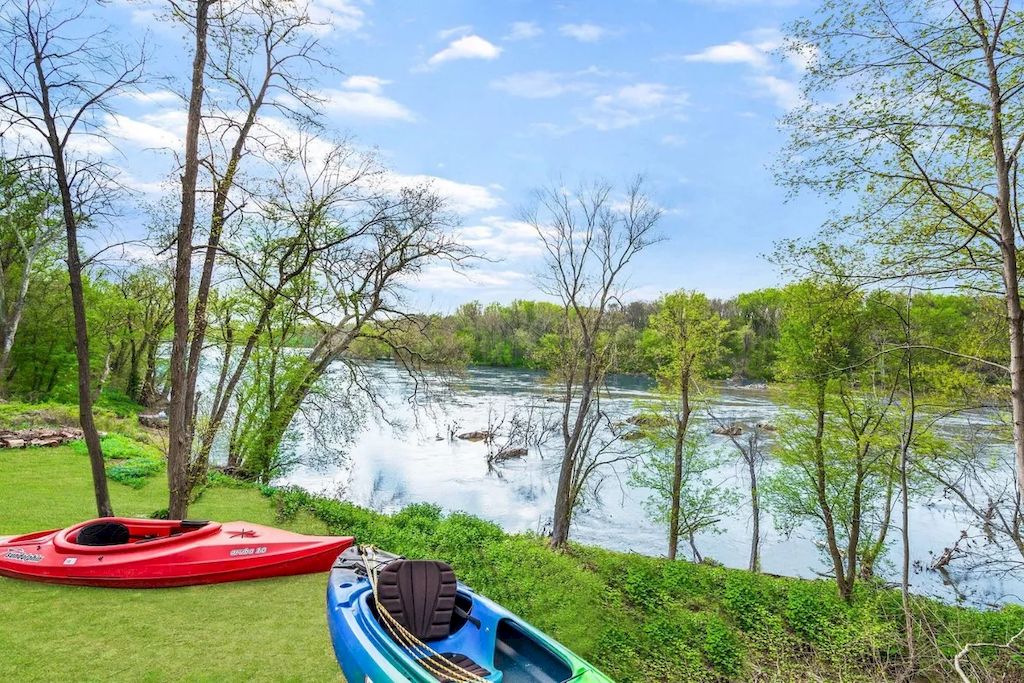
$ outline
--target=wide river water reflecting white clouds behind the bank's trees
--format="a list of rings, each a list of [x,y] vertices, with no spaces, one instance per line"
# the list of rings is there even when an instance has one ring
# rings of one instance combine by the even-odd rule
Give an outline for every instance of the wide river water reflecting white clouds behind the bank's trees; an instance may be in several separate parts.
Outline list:
[[[535,423],[552,423],[561,405],[548,400],[555,390],[545,374],[474,368],[445,383],[444,390],[437,382],[429,399],[421,392],[409,400],[413,384],[404,373],[386,362],[375,364],[369,372],[373,386],[384,398],[382,410],[314,400],[292,429],[289,447],[299,464],[275,483],[300,485],[385,512],[427,502],[446,511],[469,512],[510,531],[547,528],[557,480],[557,433],[545,444],[530,447],[524,458],[497,467],[488,467],[484,443],[449,437],[452,431],[485,429],[503,417],[507,425],[513,415],[529,415]],[[650,381],[643,378],[613,377],[609,386],[610,396],[602,404],[614,420],[626,419],[637,412],[639,402],[654,398]],[[718,419],[745,424],[771,423],[779,410],[763,388],[743,387],[720,387],[713,407]],[[353,414],[361,414],[354,428]],[[339,421],[344,426],[338,436],[332,436],[330,425]],[[696,428],[709,430],[709,421],[698,416]],[[347,436],[342,439],[340,434]],[[708,447],[734,446],[726,437],[711,436]],[[771,469],[770,461],[765,469]],[[629,485],[628,465],[617,464],[602,474],[599,496],[574,517],[572,538],[614,550],[664,555],[666,530],[644,510],[649,492]],[[740,500],[746,500],[745,467],[738,457],[716,470],[714,478],[735,487]],[[895,519],[898,516],[894,515]],[[951,545],[967,526],[965,518],[942,497],[914,503],[910,513],[911,557],[920,566],[911,575],[913,592],[974,605],[1024,602],[1024,580],[1020,577],[958,572],[955,563],[946,577],[924,568],[932,562],[933,554]],[[741,504],[726,511],[721,531],[698,537],[701,554],[727,566],[745,567],[751,538],[749,507]],[[901,553],[897,522],[889,538],[889,556],[879,573],[895,582]],[[796,577],[826,571],[812,529],[782,535],[766,513],[762,539],[764,571]],[[681,553],[686,550],[680,548]]]

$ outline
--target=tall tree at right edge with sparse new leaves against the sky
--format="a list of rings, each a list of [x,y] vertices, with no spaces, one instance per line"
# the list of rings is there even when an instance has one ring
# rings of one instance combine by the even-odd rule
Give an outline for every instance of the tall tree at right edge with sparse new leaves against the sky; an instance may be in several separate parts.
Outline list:
[[[783,179],[859,210],[826,229],[878,258],[873,278],[997,291],[1009,332],[1009,402],[1024,496],[1024,13],[1013,0],[829,0],[797,23],[806,103]]]

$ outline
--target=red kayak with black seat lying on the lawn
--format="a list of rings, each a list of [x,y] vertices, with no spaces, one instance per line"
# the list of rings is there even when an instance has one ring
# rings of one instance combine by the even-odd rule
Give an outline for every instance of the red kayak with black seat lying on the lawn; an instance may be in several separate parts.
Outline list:
[[[92,519],[0,538],[0,575],[53,584],[165,588],[328,571],[351,537],[249,522]]]

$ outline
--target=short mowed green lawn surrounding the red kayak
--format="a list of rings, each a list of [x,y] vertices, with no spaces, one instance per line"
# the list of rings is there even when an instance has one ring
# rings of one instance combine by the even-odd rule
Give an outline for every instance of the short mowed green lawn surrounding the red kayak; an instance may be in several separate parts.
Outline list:
[[[166,480],[110,482],[115,511],[167,506]],[[70,449],[0,451],[0,536],[95,516],[89,463]],[[252,489],[208,489],[189,516],[324,533],[275,519]],[[325,616],[326,574],[117,590],[0,577],[0,681],[341,681]]]

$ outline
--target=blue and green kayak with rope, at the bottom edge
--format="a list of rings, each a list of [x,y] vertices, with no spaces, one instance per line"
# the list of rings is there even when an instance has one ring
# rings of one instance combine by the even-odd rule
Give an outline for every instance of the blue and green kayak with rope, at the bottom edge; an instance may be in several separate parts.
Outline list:
[[[349,548],[331,570],[327,616],[349,683],[612,683],[443,562]]]

